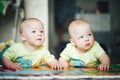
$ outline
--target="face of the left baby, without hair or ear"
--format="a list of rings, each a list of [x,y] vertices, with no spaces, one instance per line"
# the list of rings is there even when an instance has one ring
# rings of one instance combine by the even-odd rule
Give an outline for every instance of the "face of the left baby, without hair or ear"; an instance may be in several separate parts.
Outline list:
[[[43,25],[37,21],[26,24],[23,28],[23,35],[25,43],[30,46],[40,46],[45,40]]]

